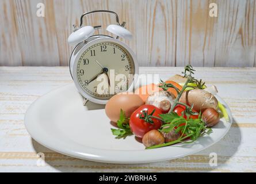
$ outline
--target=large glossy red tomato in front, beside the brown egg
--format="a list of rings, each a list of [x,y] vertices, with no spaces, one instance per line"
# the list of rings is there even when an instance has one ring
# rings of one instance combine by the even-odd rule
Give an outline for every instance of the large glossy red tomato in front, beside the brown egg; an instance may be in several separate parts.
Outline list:
[[[153,123],[146,122],[144,119],[141,119],[140,116],[145,117],[143,112],[147,112],[147,114],[151,114],[153,110],[155,112],[152,116],[159,117],[159,114],[162,114],[159,108],[156,108],[154,105],[142,105],[135,112],[132,113],[129,120],[129,127],[131,128],[132,133],[142,138],[147,132],[152,129],[159,129],[162,125],[162,121],[156,118],[152,118]],[[159,117],[160,118],[160,117]]]

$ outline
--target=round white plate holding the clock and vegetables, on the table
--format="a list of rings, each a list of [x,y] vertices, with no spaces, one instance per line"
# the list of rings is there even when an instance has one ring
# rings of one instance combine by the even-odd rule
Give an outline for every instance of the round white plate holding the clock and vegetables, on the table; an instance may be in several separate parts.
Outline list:
[[[83,106],[83,98],[74,84],[37,99],[27,110],[24,121],[33,139],[64,155],[105,163],[150,163],[194,154],[226,135],[232,116],[226,102],[217,99],[226,106],[230,122],[221,118],[210,135],[194,143],[152,150],[145,150],[135,136],[114,139],[110,131],[114,127],[105,115],[104,105],[88,102]]]

